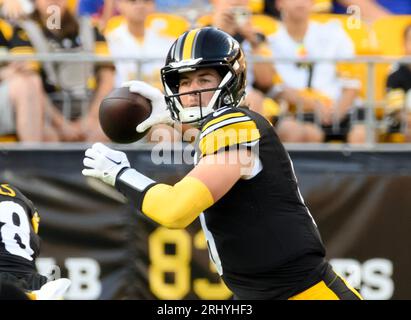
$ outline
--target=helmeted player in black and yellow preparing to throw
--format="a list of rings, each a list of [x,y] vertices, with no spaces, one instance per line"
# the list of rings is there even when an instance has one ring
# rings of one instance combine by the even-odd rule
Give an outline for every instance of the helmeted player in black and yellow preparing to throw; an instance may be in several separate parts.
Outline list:
[[[83,174],[115,186],[163,226],[184,228],[200,215],[210,257],[239,299],[361,299],[325,260],[274,128],[241,107],[245,73],[228,34],[184,33],[162,69],[165,99],[145,83],[127,85],[153,105],[138,131],[171,120],[198,125],[195,168],[174,186],[156,183],[98,143],[86,151]]]

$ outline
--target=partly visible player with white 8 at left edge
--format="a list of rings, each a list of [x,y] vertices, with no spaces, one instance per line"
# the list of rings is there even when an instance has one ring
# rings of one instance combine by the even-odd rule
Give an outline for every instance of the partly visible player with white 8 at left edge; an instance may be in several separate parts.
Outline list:
[[[68,288],[68,279],[47,283],[47,277],[36,270],[35,260],[40,253],[39,222],[39,214],[27,197],[13,186],[0,184],[0,284],[4,284],[2,297],[6,296],[5,292],[13,294],[21,289],[32,299],[53,299],[54,296],[48,294],[51,287],[53,293],[59,294]],[[11,288],[10,283],[17,289]]]

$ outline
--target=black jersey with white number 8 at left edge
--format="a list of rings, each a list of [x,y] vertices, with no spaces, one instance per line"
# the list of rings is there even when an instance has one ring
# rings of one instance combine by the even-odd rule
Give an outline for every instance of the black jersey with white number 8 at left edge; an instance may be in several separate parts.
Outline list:
[[[40,252],[40,217],[18,189],[0,184],[0,272],[32,273]]]

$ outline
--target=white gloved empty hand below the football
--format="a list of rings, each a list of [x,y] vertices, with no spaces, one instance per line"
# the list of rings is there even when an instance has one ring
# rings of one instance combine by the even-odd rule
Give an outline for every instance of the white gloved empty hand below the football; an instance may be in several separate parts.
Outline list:
[[[114,187],[116,177],[123,168],[130,168],[130,162],[124,152],[112,150],[102,143],[95,143],[86,150],[83,160],[84,176],[98,178]]]

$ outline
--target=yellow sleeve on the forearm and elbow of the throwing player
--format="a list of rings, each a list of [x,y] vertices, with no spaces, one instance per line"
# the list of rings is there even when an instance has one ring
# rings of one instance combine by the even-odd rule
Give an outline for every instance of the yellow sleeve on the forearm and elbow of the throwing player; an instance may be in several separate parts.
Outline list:
[[[157,184],[144,196],[142,212],[155,222],[182,229],[214,204],[207,186],[193,177],[185,177],[174,186]]]

